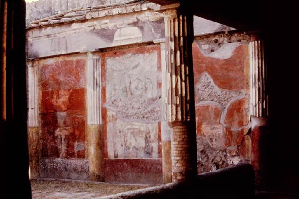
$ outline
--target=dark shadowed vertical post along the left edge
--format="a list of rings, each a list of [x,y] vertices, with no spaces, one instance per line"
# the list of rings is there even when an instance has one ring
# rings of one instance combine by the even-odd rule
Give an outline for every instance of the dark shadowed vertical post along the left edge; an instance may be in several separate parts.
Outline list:
[[[31,198],[27,135],[27,92],[25,64],[25,1],[1,0],[1,172],[4,173],[2,198],[16,191]],[[16,180],[17,179],[17,180]]]

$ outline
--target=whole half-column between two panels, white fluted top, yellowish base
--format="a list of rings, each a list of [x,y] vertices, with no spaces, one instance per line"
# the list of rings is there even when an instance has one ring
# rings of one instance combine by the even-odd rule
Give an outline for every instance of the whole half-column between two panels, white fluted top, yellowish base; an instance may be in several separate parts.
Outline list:
[[[91,181],[104,181],[104,157],[101,124],[101,59],[88,53],[87,64],[87,150]]]

